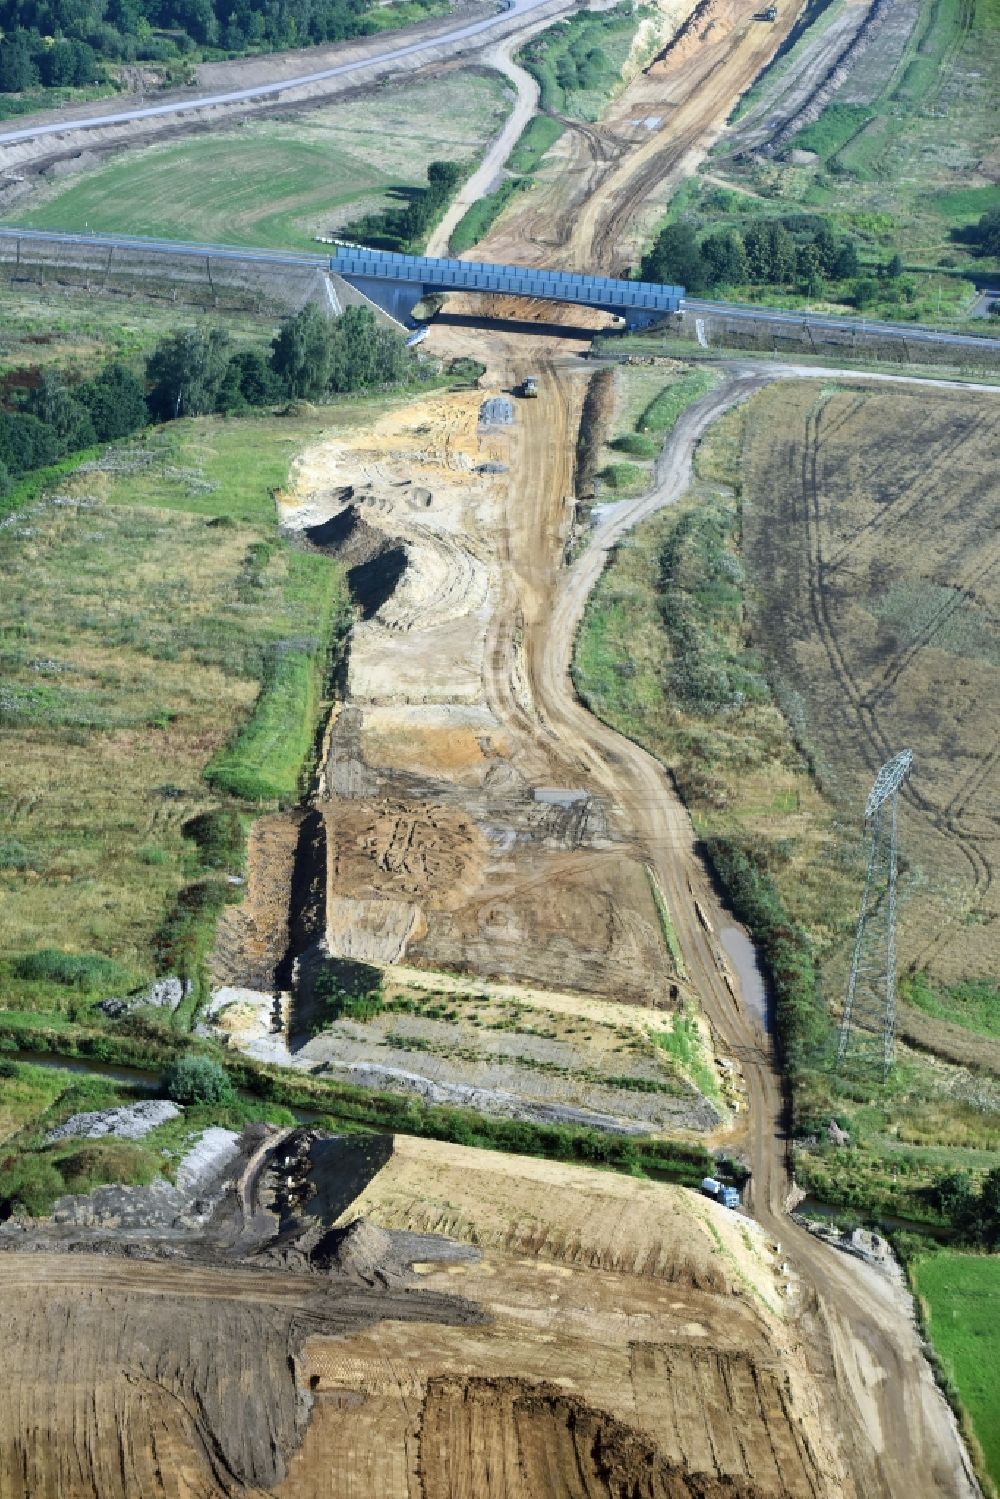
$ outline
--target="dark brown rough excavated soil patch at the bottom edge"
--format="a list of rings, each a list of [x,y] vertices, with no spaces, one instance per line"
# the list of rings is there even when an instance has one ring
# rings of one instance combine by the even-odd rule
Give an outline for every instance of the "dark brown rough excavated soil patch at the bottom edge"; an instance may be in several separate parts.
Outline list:
[[[645,1436],[553,1385],[432,1379],[423,1499],[778,1499],[781,1490],[670,1463]]]

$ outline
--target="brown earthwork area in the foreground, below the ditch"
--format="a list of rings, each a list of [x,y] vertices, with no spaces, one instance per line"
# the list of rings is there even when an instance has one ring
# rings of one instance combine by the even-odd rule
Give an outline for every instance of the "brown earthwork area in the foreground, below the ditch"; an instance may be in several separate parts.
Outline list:
[[[252,1126],[0,1247],[7,1499],[850,1492],[780,1247],[681,1187]]]

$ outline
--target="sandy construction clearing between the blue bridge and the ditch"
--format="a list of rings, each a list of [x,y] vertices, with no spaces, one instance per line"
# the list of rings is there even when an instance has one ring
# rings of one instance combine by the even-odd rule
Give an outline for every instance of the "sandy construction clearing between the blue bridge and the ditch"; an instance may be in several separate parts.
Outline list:
[[[322,442],[279,498],[360,619],[312,805],[252,830],[205,1019],[259,1060],[484,1114],[726,1135],[738,1067],[715,1061],[655,872],[597,788],[559,784],[529,694],[520,723],[496,702],[502,475],[541,433],[495,388]],[[328,958],[379,974],[378,1018],[324,1021]]]

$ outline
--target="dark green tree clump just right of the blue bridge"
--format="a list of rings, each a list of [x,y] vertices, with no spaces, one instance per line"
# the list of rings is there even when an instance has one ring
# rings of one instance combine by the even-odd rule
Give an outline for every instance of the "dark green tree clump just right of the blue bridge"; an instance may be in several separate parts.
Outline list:
[[[856,280],[859,271],[855,241],[814,214],[751,219],[744,229],[706,235],[690,223],[669,223],[642,261],[643,280],[678,283],[694,295],[718,286],[798,286],[817,295],[828,282],[853,282],[853,300],[862,304],[876,295],[877,283],[868,288],[865,277]],[[886,274],[901,271],[897,255]]]

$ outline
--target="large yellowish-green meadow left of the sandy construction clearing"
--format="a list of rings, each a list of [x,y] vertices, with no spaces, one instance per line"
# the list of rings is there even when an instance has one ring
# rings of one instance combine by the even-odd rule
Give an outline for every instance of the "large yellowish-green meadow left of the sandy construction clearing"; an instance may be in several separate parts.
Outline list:
[[[192,827],[234,799],[295,799],[348,619],[340,570],[280,538],[273,492],[297,448],[369,412],[174,423],[0,532],[10,1007],[75,1015],[118,988],[99,965],[25,970],[37,947],[132,982],[175,971],[198,995],[240,854],[219,868]]]

